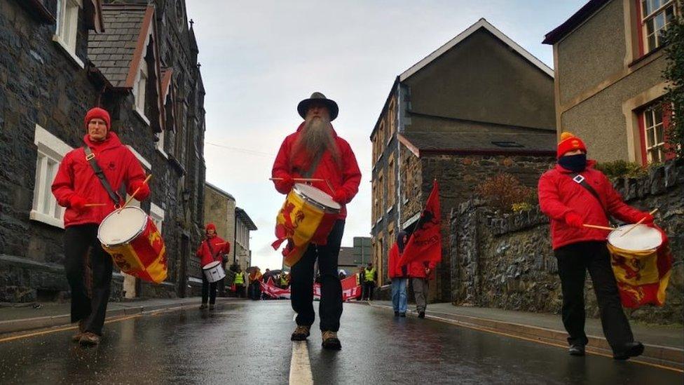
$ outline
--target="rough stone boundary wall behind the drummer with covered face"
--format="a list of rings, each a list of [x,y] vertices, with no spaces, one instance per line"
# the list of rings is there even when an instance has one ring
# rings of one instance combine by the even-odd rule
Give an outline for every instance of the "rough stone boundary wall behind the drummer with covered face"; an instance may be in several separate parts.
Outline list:
[[[648,323],[683,323],[684,161],[650,169],[638,179],[613,182],[636,208],[659,208],[656,222],[669,236],[674,258],[666,304],[625,309],[629,318]],[[559,313],[561,283],[551,248],[549,220],[538,207],[501,217],[479,201],[451,211],[451,294],[453,304]],[[596,296],[587,279],[587,315],[598,317]]]

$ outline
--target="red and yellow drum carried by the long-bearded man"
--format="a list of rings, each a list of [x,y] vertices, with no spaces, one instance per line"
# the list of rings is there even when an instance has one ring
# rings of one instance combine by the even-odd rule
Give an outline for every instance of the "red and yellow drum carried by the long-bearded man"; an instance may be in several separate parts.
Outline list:
[[[295,264],[309,243],[325,245],[328,235],[339,216],[341,205],[331,196],[308,184],[295,184],[287,194],[276,219],[273,248],[287,240],[283,255],[285,264]]]

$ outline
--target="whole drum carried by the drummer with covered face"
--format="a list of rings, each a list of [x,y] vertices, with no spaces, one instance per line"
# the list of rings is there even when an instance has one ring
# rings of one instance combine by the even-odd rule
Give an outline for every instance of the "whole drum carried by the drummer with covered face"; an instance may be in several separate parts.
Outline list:
[[[665,266],[667,253],[664,233],[653,227],[638,224],[634,230],[621,236],[634,224],[618,227],[608,234],[610,264],[613,266],[622,305],[635,308],[643,304],[662,305],[669,281],[669,266]]]

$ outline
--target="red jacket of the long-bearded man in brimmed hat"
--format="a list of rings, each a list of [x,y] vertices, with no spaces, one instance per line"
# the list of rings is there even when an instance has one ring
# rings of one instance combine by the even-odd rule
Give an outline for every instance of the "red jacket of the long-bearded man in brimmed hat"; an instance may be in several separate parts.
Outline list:
[[[278,156],[275,157],[275,163],[273,163],[272,175],[274,178],[285,177],[289,175],[292,178],[301,178],[302,174],[308,169],[308,164],[306,164],[305,154],[292,154],[293,144],[299,137],[299,132],[303,128],[304,123],[299,125],[296,133],[292,133],[285,137],[280,145],[280,150],[278,151]],[[341,199],[342,210],[340,211],[340,219],[347,217],[346,203],[349,203],[352,198],[359,192],[359,184],[361,183],[361,171],[359,170],[359,165],[356,163],[356,157],[352,151],[349,143],[343,140],[341,137],[337,136],[337,133],[333,131],[335,138],[335,143],[340,151],[341,156],[341,166],[332,158],[329,151],[325,151],[321,157],[320,163],[311,175],[314,179],[324,179],[330,182],[332,189],[328,187],[326,182],[313,182],[311,183],[313,187],[325,191],[330,196],[335,196],[337,191],[343,191],[343,197]],[[275,189],[281,194],[288,194],[289,190],[281,181],[273,181],[275,184]]]

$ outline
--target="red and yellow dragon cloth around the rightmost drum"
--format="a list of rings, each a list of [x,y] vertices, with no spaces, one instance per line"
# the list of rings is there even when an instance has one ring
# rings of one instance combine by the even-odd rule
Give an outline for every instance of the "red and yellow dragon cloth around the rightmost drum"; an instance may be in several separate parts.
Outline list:
[[[662,229],[662,244],[656,250],[635,252],[608,243],[611,265],[622,306],[635,309],[645,304],[663,306],[672,269],[669,241]]]

